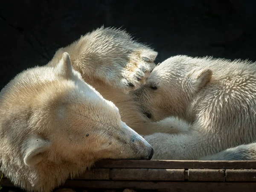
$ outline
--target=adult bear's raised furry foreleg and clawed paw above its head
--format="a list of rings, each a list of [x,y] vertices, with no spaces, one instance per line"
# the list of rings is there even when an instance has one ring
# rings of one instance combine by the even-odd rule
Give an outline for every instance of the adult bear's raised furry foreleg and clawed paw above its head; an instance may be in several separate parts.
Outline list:
[[[55,66],[63,52],[68,52],[75,70],[83,79],[95,84],[103,81],[108,86],[131,90],[136,88],[154,68],[157,52],[141,44],[124,30],[104,28],[89,32],[67,47],[58,49],[50,66]]]

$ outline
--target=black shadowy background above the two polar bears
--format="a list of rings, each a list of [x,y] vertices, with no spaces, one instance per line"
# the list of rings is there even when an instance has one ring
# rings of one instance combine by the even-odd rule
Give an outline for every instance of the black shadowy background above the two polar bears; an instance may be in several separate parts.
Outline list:
[[[150,44],[156,63],[177,54],[256,61],[255,0],[2,0],[0,89],[103,24]]]

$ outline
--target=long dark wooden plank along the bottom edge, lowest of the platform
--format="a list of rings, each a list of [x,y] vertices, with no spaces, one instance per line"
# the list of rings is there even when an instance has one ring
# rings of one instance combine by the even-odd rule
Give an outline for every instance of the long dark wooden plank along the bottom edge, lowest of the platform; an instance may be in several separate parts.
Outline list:
[[[256,182],[152,182],[152,181],[79,181],[67,180],[62,187],[89,189],[166,189],[172,192],[256,192]]]

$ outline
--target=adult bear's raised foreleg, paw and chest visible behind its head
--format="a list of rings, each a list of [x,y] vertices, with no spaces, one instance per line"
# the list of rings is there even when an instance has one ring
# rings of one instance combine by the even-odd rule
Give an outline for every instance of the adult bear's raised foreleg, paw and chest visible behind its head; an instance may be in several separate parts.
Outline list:
[[[135,41],[121,29],[101,27],[55,53],[49,66],[55,67],[63,52],[68,52],[73,68],[85,82],[119,108],[122,121],[139,134],[174,130],[170,119],[152,122],[140,111],[130,92],[143,84],[155,67],[157,52]],[[172,120],[172,119],[171,119]]]

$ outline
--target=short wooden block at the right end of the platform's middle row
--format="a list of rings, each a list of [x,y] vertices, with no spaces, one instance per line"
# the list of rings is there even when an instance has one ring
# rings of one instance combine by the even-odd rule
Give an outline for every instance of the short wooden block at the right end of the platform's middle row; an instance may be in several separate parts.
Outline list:
[[[256,170],[254,169],[227,169],[226,181],[256,181]]]

